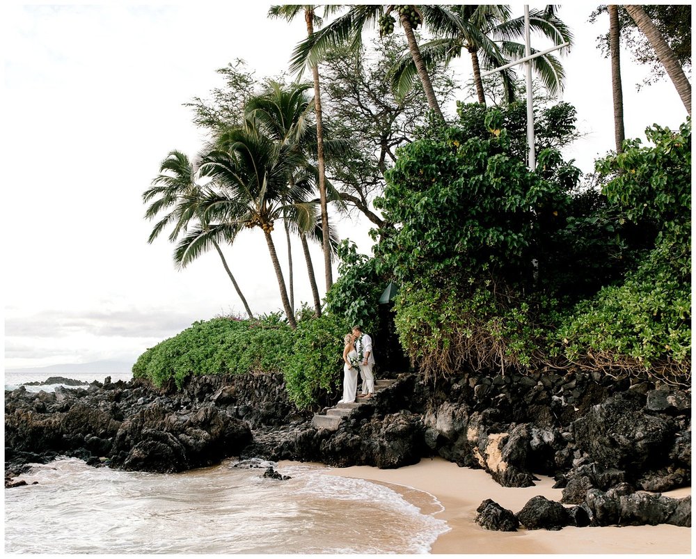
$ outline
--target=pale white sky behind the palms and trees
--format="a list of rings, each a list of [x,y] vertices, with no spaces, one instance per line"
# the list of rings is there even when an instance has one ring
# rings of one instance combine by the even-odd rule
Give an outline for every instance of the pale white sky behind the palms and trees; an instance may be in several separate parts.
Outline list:
[[[514,6],[521,14],[522,4]],[[564,5],[560,17],[575,34],[564,58],[563,99],[576,106],[587,134],[572,157],[589,172],[614,140],[610,65],[595,40],[605,28],[587,23],[594,5],[586,6]],[[170,150],[192,156],[200,148],[202,132],[182,104],[222,85],[217,68],[235,58],[259,77],[287,68],[304,22],[268,19],[268,8],[255,2],[0,8],[5,368],[133,363],[196,320],[242,313],[215,253],[177,271],[166,236],[147,244],[152,222],[143,219],[141,194]],[[647,70],[628,53],[622,63],[626,137],[642,137],[652,123],[677,127],[686,110],[672,85],[637,93]],[[462,83],[470,78],[468,64],[455,66]],[[339,224],[365,253],[369,228]],[[276,246],[285,262],[280,233]],[[280,310],[261,235],[240,237],[226,255],[253,312]],[[311,301],[299,246],[293,258],[299,306]],[[318,248],[313,258],[323,297]]]

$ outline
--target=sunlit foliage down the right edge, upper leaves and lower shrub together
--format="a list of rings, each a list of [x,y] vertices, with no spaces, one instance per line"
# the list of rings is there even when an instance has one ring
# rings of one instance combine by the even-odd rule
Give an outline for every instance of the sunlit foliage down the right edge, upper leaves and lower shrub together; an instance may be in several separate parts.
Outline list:
[[[604,191],[622,219],[654,232],[623,283],[578,305],[558,336],[570,359],[611,369],[640,364],[688,373],[691,343],[691,126],[646,131],[654,147],[626,142],[621,155],[597,162],[612,175]]]

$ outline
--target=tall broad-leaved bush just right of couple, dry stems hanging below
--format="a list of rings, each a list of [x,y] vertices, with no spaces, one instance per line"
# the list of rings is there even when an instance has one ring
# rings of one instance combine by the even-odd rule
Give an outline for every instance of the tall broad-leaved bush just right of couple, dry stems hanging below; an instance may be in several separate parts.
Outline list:
[[[426,374],[530,363],[549,302],[540,272],[555,264],[548,248],[546,261],[535,258],[561,228],[579,177],[551,148],[539,154],[541,172],[528,171],[508,113],[460,109],[475,118],[400,150],[378,200],[400,225],[377,251],[403,284],[397,331]]]

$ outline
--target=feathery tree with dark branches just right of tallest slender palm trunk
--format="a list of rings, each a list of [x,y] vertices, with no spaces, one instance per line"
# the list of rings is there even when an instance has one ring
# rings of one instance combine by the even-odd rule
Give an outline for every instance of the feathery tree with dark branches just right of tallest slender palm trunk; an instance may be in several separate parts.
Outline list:
[[[325,80],[324,123],[333,135],[350,138],[347,152],[327,159],[329,180],[350,211],[358,210],[379,228],[386,226],[371,206],[381,194],[384,173],[396,161],[396,150],[413,141],[428,122],[425,93],[416,86],[396,100],[388,72],[406,49],[403,36],[374,38],[361,52],[334,49],[322,62]],[[439,102],[452,98],[452,72],[437,68],[432,84]]]

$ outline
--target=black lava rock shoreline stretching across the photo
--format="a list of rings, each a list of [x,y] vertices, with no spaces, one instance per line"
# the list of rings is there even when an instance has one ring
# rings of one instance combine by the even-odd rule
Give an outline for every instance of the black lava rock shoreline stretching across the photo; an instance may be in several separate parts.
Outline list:
[[[530,487],[537,473],[562,488],[561,503],[538,497],[517,514],[484,501],[485,528],[690,526],[690,497],[660,494],[691,483],[690,391],[582,372],[391,376],[336,431],[313,427],[279,374],[190,377],[182,391],[141,379],[6,391],[6,487],[58,456],[162,473],[226,457],[384,469],[441,456],[503,487]]]

